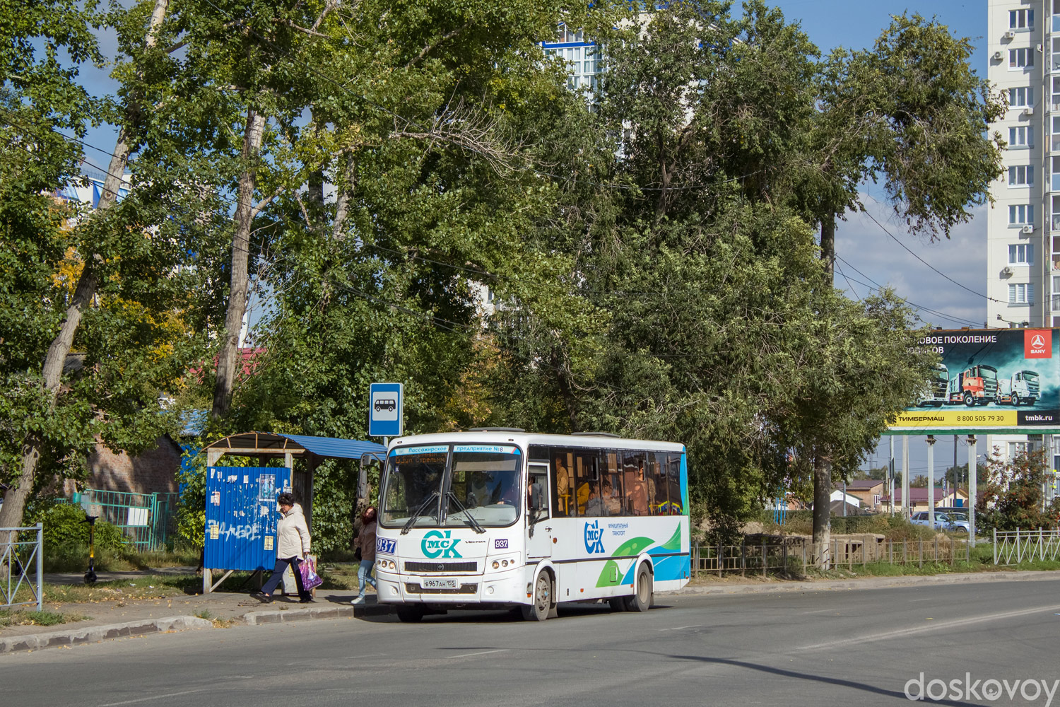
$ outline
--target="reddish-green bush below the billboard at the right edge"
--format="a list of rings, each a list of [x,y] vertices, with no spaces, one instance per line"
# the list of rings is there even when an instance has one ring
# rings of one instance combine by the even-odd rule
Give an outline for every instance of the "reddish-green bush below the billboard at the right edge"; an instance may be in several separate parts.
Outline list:
[[[995,448],[983,473],[985,483],[979,481],[975,505],[978,532],[1058,527],[1060,499],[1043,502],[1042,487],[1052,476],[1045,450],[1021,449],[1009,459]]]

